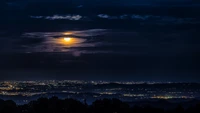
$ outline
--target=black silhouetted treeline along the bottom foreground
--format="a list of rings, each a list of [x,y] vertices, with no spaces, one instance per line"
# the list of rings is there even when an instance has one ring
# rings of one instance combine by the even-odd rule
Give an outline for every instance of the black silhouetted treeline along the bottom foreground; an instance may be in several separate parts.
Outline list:
[[[152,106],[129,106],[118,99],[96,100],[92,105],[74,99],[61,100],[57,97],[39,98],[25,105],[12,100],[0,100],[0,113],[200,113],[200,103],[184,109],[181,105],[166,110]]]

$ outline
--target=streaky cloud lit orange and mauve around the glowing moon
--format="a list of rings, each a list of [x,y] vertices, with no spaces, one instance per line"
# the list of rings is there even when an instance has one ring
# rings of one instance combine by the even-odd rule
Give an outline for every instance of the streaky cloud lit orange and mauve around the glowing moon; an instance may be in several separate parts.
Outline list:
[[[99,40],[94,40],[92,37],[102,36],[106,31],[106,29],[88,29],[66,32],[27,32],[21,36],[18,46],[23,47],[25,52],[74,52],[74,56],[79,56],[77,52],[79,48],[96,46]],[[65,43],[63,40],[65,37],[73,38],[73,42]]]

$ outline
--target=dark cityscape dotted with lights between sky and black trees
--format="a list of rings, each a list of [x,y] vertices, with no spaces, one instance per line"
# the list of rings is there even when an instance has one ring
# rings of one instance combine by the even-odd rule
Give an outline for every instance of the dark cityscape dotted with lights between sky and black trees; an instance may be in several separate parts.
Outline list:
[[[198,83],[161,82],[109,82],[80,80],[2,81],[0,97],[13,99],[18,104],[28,103],[39,97],[87,99],[118,98],[122,101],[146,99],[198,99]]]

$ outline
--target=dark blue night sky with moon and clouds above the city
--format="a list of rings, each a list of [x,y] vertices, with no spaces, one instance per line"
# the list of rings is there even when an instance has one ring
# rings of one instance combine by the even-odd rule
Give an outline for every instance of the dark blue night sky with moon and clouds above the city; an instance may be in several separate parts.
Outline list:
[[[200,82],[199,0],[0,4],[0,80]]]

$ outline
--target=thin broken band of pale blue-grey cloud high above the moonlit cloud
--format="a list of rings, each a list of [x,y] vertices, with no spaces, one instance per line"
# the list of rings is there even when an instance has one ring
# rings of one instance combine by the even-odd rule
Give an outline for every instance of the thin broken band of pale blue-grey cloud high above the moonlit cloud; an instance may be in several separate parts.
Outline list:
[[[197,24],[200,21],[196,18],[178,18],[173,16],[159,16],[159,15],[139,15],[139,14],[121,14],[121,15],[109,15],[109,14],[98,14],[96,15],[99,19],[104,20],[129,20],[129,21],[141,21],[152,24]],[[86,18],[95,21],[94,16],[81,16],[81,15],[53,15],[53,16],[30,16],[35,19],[46,19],[46,20],[85,20]]]

